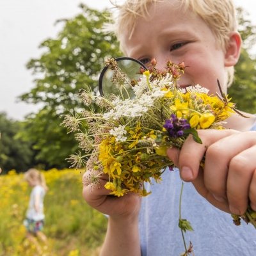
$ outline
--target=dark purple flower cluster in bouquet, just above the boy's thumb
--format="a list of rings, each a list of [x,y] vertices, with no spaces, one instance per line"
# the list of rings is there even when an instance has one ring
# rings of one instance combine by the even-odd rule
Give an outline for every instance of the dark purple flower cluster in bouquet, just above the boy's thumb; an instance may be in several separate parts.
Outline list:
[[[191,127],[188,124],[188,120],[177,118],[177,116],[172,114],[171,118],[165,121],[164,128],[170,137],[178,138],[184,135],[184,130],[190,129]]]

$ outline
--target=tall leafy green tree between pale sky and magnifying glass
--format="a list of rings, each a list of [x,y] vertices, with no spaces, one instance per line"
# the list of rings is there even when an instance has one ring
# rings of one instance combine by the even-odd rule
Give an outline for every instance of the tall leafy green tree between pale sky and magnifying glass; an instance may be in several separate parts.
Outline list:
[[[35,79],[30,92],[20,96],[25,102],[43,104],[38,113],[27,116],[20,136],[32,141],[36,160],[47,162],[46,168],[67,166],[65,158],[76,151],[76,141],[60,127],[60,115],[80,108],[79,90],[86,84],[96,88],[104,60],[120,56],[115,38],[101,29],[108,12],[83,4],[81,10],[74,19],[60,20],[63,30],[40,45],[44,54],[30,60],[28,68],[41,78]]]

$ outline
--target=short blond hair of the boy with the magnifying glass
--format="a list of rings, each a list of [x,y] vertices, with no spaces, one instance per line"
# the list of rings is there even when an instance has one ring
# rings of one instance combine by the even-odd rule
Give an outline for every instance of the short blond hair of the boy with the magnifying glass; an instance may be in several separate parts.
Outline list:
[[[118,17],[112,30],[120,41],[120,49],[125,52],[120,37],[124,28],[130,38],[140,17],[147,19],[148,8],[152,4],[163,3],[168,0],[126,0],[124,4],[116,4]],[[177,0],[179,8],[185,12],[193,12],[209,26],[216,36],[216,43],[223,51],[228,49],[230,33],[237,31],[236,8],[233,0]],[[234,67],[228,67],[227,83],[230,85],[234,79]]]

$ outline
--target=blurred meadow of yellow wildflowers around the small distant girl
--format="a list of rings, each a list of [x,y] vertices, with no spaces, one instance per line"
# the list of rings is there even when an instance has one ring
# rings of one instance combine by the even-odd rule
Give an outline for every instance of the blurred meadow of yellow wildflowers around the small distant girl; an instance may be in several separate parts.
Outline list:
[[[79,170],[43,171],[49,191],[45,195],[42,255],[98,255],[106,232],[106,217],[86,204]],[[0,256],[38,255],[26,239],[22,225],[31,188],[23,174],[0,175]]]

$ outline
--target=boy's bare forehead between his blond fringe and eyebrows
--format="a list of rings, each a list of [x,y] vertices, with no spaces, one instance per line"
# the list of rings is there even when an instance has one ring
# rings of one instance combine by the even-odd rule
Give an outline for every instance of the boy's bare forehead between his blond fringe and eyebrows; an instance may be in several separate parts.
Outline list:
[[[156,37],[159,40],[172,40],[196,35],[198,29],[209,31],[207,24],[196,13],[185,12],[179,4],[173,3],[177,1],[164,1],[152,5],[148,8],[146,17],[137,17],[132,31],[122,32],[120,42],[125,54],[131,56],[127,51],[136,52],[140,49],[141,45],[146,44],[145,38],[151,41]]]

